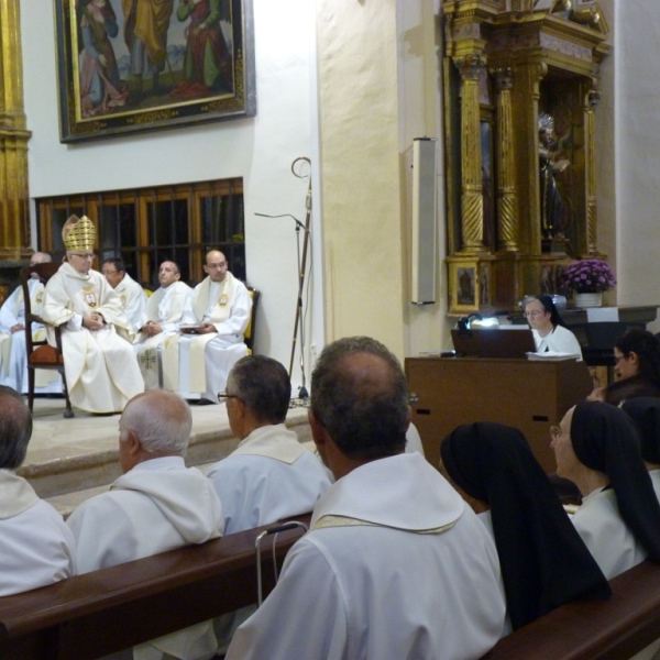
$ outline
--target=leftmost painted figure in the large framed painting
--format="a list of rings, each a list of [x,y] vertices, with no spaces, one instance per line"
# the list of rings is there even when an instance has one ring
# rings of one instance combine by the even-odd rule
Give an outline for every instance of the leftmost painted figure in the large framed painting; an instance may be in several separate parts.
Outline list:
[[[82,117],[107,114],[128,101],[110,38],[117,36],[117,15],[108,0],[87,0],[79,7],[81,37],[80,110]]]

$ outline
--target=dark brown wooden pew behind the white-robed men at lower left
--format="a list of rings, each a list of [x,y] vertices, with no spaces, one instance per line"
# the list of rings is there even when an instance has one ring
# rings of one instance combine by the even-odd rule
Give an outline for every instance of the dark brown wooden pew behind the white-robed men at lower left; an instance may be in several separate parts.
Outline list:
[[[0,660],[92,660],[256,603],[254,543],[271,527],[4,596]],[[300,536],[278,535],[278,563]],[[274,586],[273,538],[262,542],[264,594]]]

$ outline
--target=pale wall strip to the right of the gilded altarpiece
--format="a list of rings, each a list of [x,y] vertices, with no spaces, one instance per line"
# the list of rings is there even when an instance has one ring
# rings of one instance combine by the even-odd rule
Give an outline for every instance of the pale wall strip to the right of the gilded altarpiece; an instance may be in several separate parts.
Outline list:
[[[660,304],[660,3],[614,4],[618,304]]]

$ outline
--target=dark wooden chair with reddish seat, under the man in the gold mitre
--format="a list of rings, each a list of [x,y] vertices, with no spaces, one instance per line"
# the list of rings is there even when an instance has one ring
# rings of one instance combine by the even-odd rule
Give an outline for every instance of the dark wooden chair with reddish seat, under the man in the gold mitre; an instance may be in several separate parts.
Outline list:
[[[32,314],[32,304],[30,301],[30,289],[28,283],[32,277],[32,273],[38,275],[40,280],[45,285],[62,264],[57,262],[48,262],[36,264],[34,266],[25,266],[21,270],[21,287],[23,288],[23,298],[25,302],[25,350],[28,352],[28,405],[32,411],[34,406],[34,370],[46,369],[57,370],[62,374],[62,383],[64,385],[64,396],[66,398],[66,410],[64,417],[67,419],[74,417],[72,403],[68,396],[66,386],[66,376],[64,374],[64,354],[62,352],[62,333],[58,327],[55,328],[55,341],[57,348],[50,345],[44,341],[34,341],[32,337],[32,323],[44,323],[44,320]]]

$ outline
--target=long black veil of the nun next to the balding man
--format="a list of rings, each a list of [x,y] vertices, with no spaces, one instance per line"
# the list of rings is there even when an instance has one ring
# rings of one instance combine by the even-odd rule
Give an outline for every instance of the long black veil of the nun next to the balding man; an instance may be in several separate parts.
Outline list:
[[[525,436],[513,427],[459,427],[441,444],[444,469],[486,503],[515,630],[579,600],[605,600],[609,585],[580,539]]]

